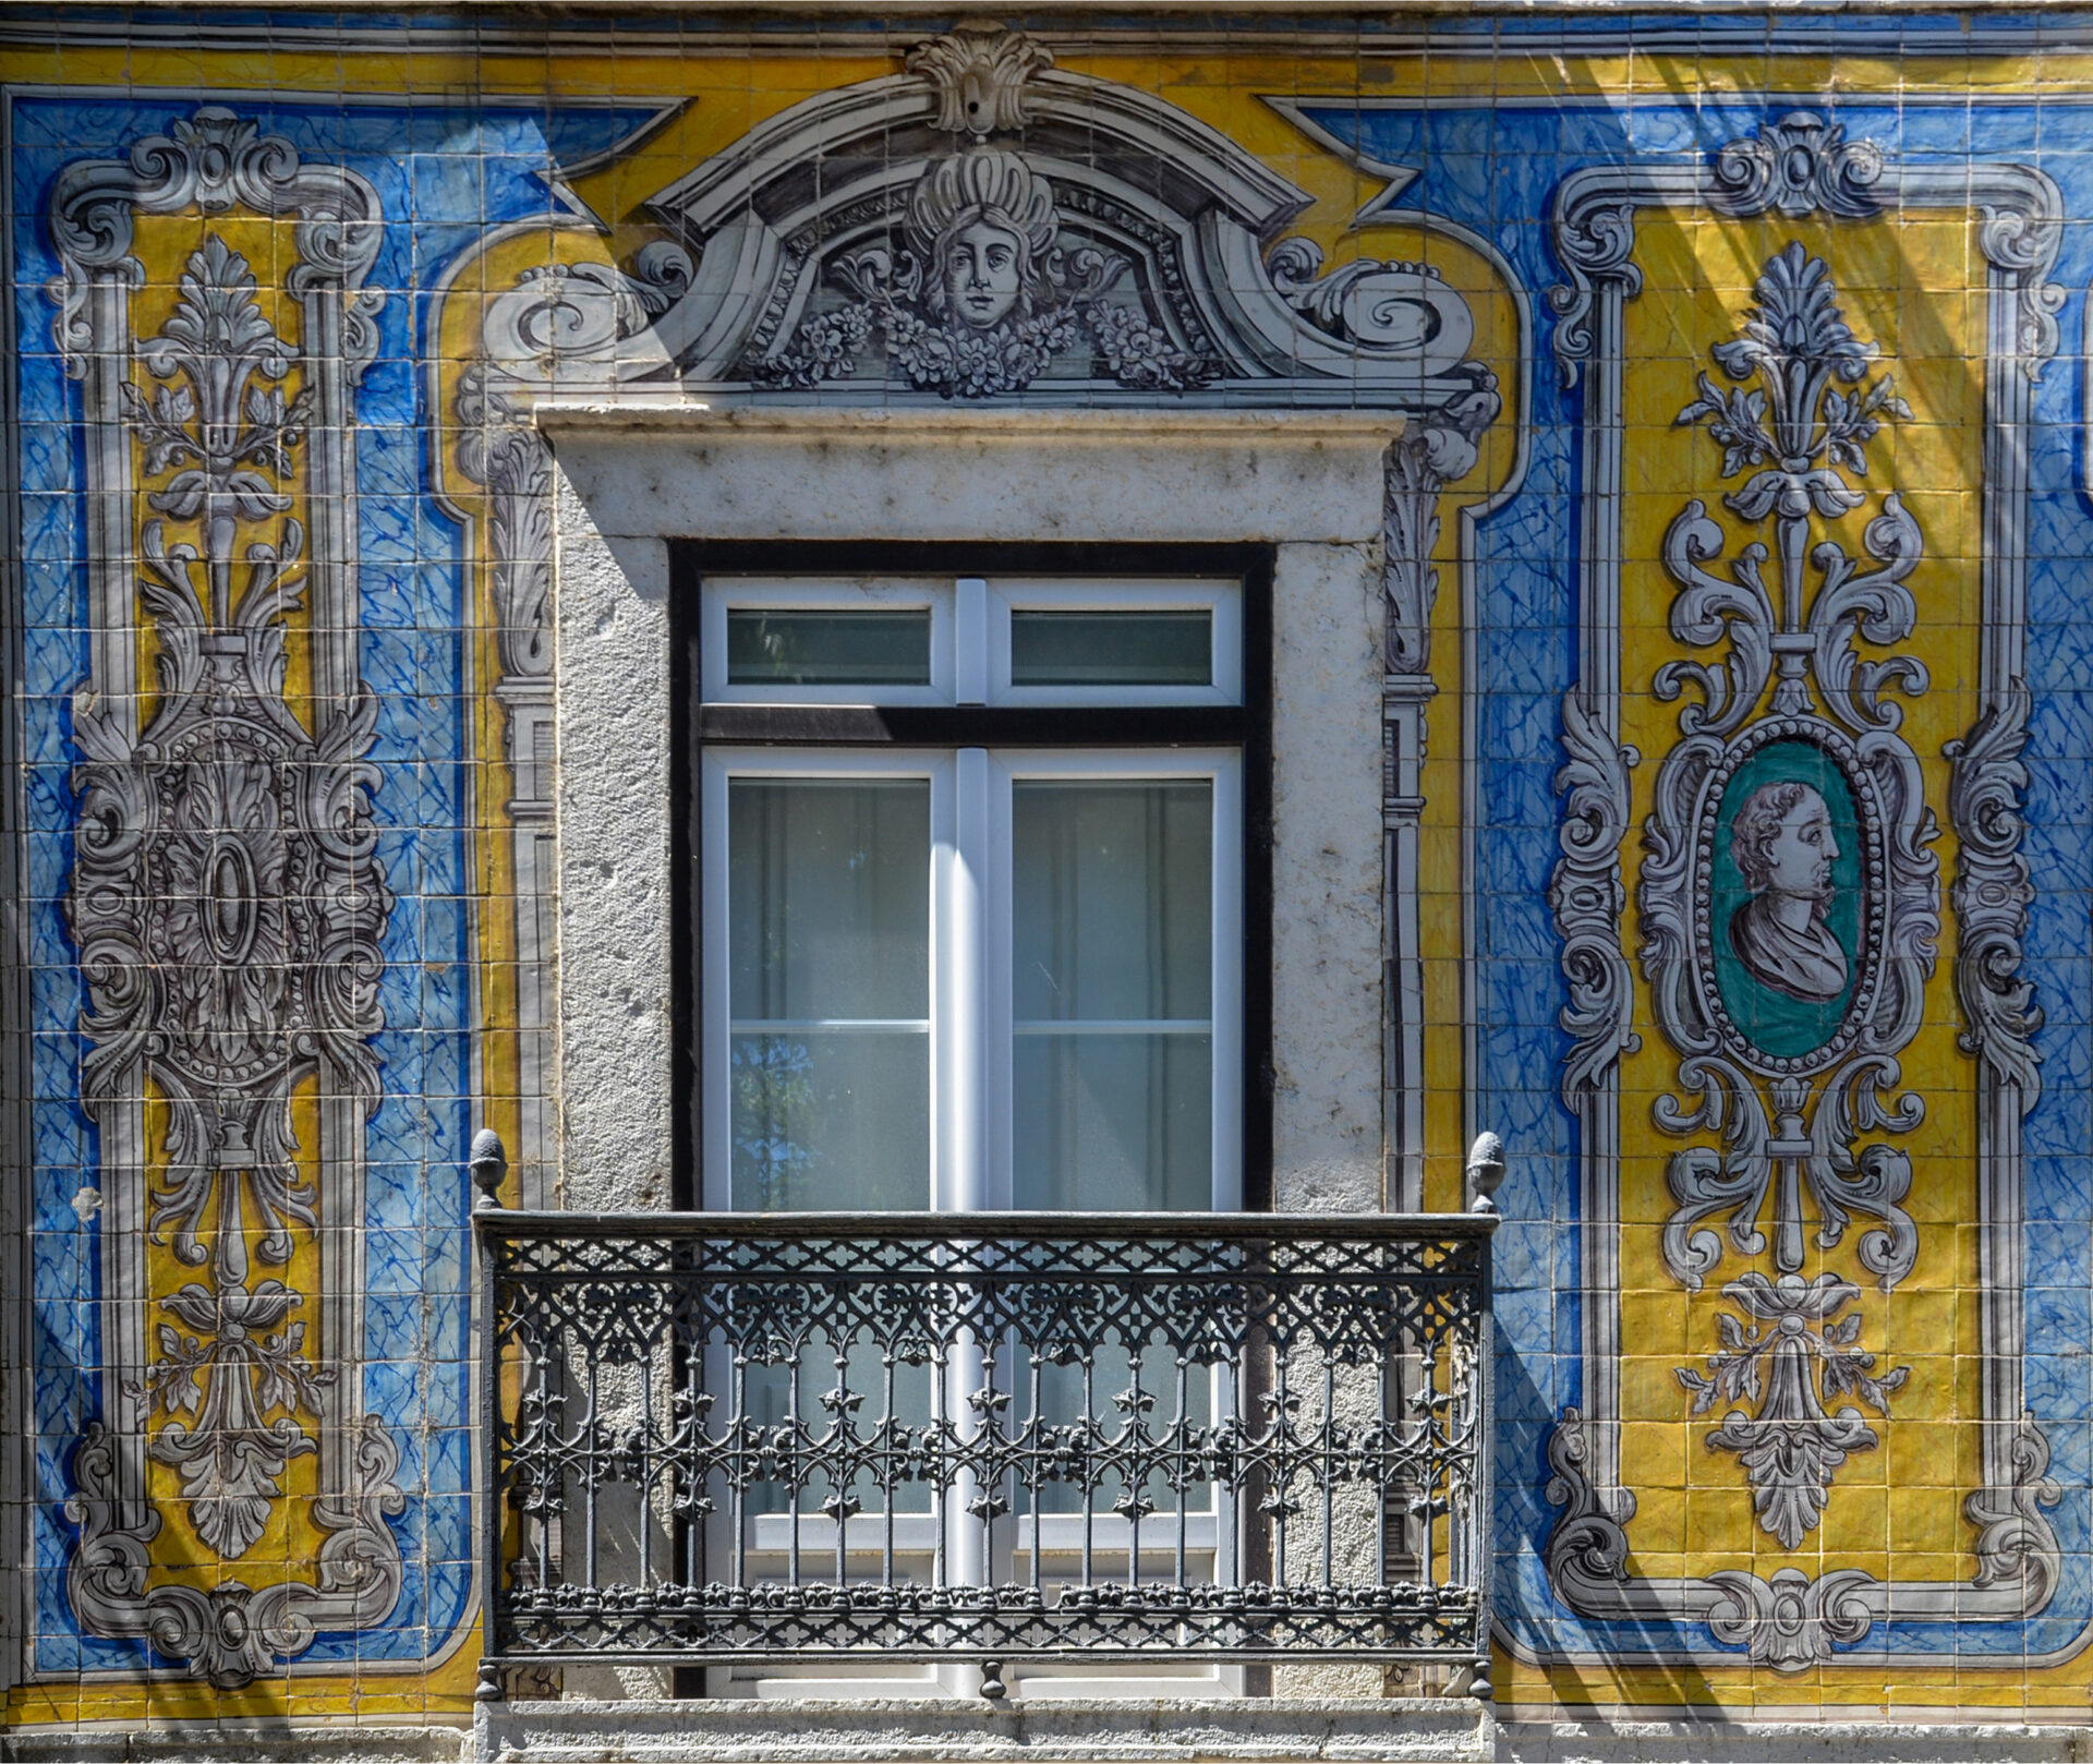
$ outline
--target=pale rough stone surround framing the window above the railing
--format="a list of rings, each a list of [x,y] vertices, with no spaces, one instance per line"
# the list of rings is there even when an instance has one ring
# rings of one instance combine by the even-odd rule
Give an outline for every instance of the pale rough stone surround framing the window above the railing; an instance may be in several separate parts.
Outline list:
[[[1381,1191],[1388,412],[540,404],[555,456],[559,1203],[670,1195],[668,540],[1260,542],[1273,1203]],[[1354,764],[1335,764],[1352,753]]]

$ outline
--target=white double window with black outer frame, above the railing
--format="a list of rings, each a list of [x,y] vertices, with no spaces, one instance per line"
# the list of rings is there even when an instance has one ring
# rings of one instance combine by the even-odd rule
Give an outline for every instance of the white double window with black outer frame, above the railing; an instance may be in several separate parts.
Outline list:
[[[1268,559],[687,546],[680,1203],[1235,1209]]]

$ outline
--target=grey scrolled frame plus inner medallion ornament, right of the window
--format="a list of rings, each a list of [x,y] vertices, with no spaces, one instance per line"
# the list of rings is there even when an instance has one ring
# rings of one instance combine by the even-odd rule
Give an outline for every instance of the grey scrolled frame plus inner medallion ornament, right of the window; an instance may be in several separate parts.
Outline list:
[[[2024,571],[2028,389],[2057,341],[2060,197],[2016,165],[1903,167],[1836,123],[1790,113],[1706,163],[1630,163],[1572,174],[1555,201],[1568,280],[1551,291],[1566,383],[1584,383],[1586,483],[1620,483],[1620,306],[1641,289],[1637,207],[1718,216],[1861,220],[1898,207],[1976,209],[1990,266],[1993,360],[1984,448],[1984,624],[1980,716],[1951,743],[1946,812],[1961,843],[1951,889],[1957,1004],[1976,1057],[1984,1207],[1984,1484],[1965,1498],[1978,1574],[1884,1584],[1861,1569],[1760,1578],[1641,1580],[1628,1574],[1635,1496],[1620,1479],[1618,1065],[1641,1046],[1622,944],[1620,852],[1630,833],[1630,770],[1620,691],[1683,701],[1660,757],[1641,835],[1637,960],[1670,1094],[1651,1120],[1685,1140],[1668,1159],[1672,1212],[1660,1253],[1687,1293],[1729,1258],[1771,1256],[1720,1287],[1716,1345],[1679,1366],[1685,1410],[1718,1415],[1710,1450],[1733,1454],[1760,1532],[1802,1548],[1836,1498],[1840,1467],[1880,1446],[1909,1369],[1861,1345],[1867,1285],[1888,1293],[1915,1266],[1905,1207],[1913,1170],[1900,1138],[1926,1117],[1900,1055],[1923,1019],[1940,933],[1938,837],[1903,701],[1930,686],[1894,651],[1917,628],[1917,521],[1867,488],[1871,444],[1909,416],[1894,372],[1854,335],[1833,264],[1800,241],[1760,266],[1737,333],[1710,349],[1714,372],[1676,414],[1702,435],[1714,475],[1735,481],[1727,519],[1700,498],[1670,521],[1679,657],[1647,682],[1620,682],[1620,504],[1599,498],[1589,532],[1612,546],[1584,559],[1582,678],[1563,701],[1566,812],[1551,902],[1561,935],[1572,1036],[1563,1101],[1580,1122],[1584,1379],[1580,1408],[1549,1440],[1549,1498],[1561,1509],[1547,1569],[1578,1613],[1643,1626],[1666,1659],[1720,1659],[1741,1647],[1783,1672],[1867,1643],[1884,1620],[2013,1622],[2057,1588],[2060,1544],[2045,1509],[2049,1446],[2020,1400],[2020,1120],[2039,1094],[2039,1015],[2020,977],[2032,900],[2020,852],[2026,785]],[[1741,481],[1739,481],[1741,479]],[[1591,496],[1593,492],[1586,492]],[[1823,523],[1873,508],[1863,557]],[[1867,644],[1867,653],[1859,644]],[[1815,1226],[1815,1228],[1813,1228]],[[1850,1272],[1804,1279],[1810,1251]],[[1865,1283],[1865,1285],[1863,1285]],[[1651,1620],[1704,1624],[1660,1632]],[[1926,1655],[1915,1655],[1926,1657]]]

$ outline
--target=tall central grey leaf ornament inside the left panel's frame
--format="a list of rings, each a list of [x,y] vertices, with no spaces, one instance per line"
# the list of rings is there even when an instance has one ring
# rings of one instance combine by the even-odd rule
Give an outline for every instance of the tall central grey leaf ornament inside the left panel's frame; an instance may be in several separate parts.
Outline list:
[[[316,1450],[331,1381],[306,1354],[306,1295],[253,1281],[249,1253],[283,1268],[318,1224],[293,1086],[377,1096],[368,1038],[391,896],[364,760],[375,703],[331,707],[314,741],[285,701],[303,529],[257,527],[291,506],[308,391],[280,383],[297,349],[247,259],[211,234],[138,360],[151,383],[121,398],[147,479],[163,479],[140,536],[159,703],[136,745],[92,693],[75,711],[82,1088],[98,1101],[149,1078],[165,1099],[147,1224],[207,1283],[161,1302],[172,1320],[132,1389],[161,1421],[147,1450],[180,1473],[197,1536],[237,1559],[268,1528],[289,1461]],[[170,521],[201,546],[170,538]]]

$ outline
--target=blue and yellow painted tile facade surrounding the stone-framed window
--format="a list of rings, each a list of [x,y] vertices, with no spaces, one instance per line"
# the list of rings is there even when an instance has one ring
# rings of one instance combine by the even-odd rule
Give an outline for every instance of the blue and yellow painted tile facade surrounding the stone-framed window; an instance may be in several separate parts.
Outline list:
[[[0,19],[8,1722],[469,1716],[471,1132],[573,1178],[532,408],[678,398],[1390,412],[1499,1701],[2085,1720],[2093,17],[1011,23]],[[1118,268],[837,270],[942,172]]]

